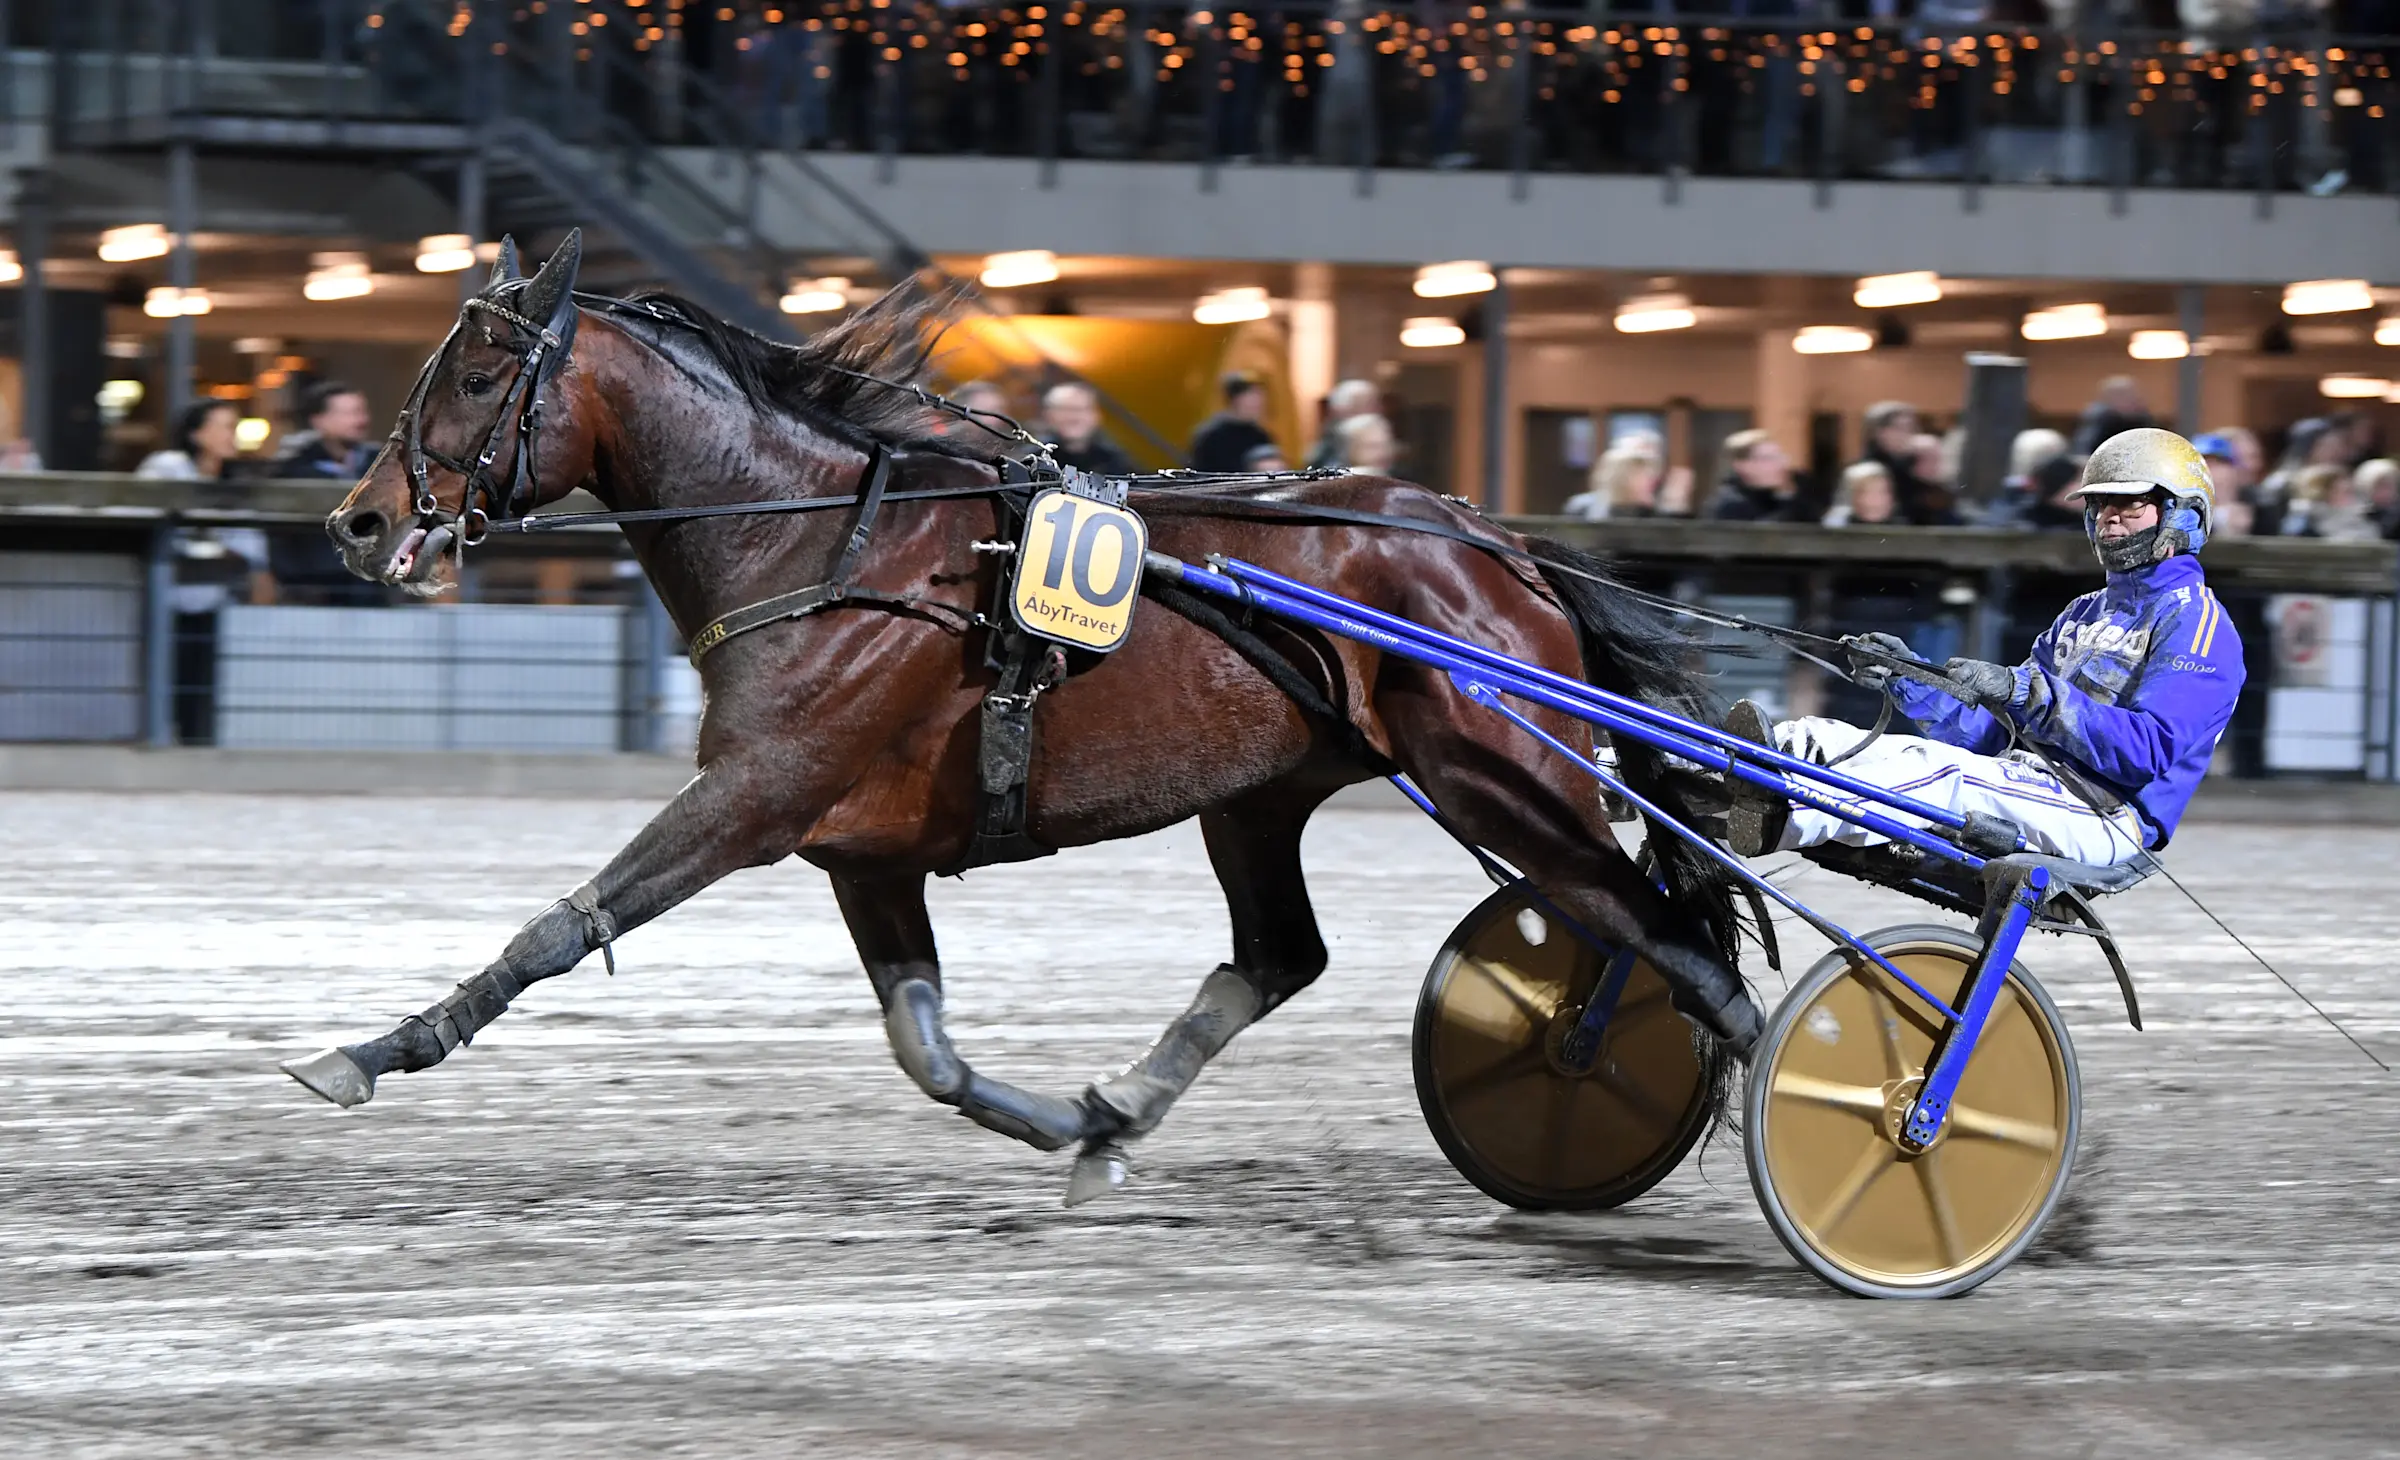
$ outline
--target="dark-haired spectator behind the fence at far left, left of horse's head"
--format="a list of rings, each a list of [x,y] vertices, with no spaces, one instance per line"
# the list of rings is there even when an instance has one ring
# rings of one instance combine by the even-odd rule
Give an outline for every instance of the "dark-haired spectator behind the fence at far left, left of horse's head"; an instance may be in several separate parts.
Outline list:
[[[233,475],[240,420],[233,401],[194,401],[175,420],[175,444],[151,451],[134,475],[154,480],[214,483]],[[319,538],[322,540],[322,538]],[[235,600],[235,586],[252,603],[274,603],[266,574],[269,543],[259,528],[175,528],[175,740],[216,742],[216,615]]]

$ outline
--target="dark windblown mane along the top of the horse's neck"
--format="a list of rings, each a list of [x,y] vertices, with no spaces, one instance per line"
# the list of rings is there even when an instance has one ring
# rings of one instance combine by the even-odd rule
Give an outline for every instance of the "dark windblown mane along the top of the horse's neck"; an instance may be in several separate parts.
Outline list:
[[[636,293],[626,303],[634,307],[612,315],[612,322],[653,317],[682,327],[708,348],[756,411],[799,413],[857,447],[883,442],[960,454],[972,444],[946,442],[943,427],[955,423],[912,391],[859,379],[874,375],[902,387],[922,384],[953,303],[948,291],[902,283],[799,343],[742,329],[662,288]]]

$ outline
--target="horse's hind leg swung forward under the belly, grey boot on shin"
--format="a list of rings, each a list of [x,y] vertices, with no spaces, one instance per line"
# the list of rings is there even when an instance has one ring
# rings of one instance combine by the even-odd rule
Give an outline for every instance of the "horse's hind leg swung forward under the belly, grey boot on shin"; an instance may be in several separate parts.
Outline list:
[[[1121,1186],[1126,1141],[1157,1129],[1234,1035],[1325,973],[1325,939],[1301,879],[1301,831],[1325,795],[1270,785],[1200,816],[1234,915],[1234,961],[1200,980],[1190,1009],[1140,1059],[1085,1090],[1085,1102],[1106,1109],[1116,1126],[1085,1141],[1068,1205]]]

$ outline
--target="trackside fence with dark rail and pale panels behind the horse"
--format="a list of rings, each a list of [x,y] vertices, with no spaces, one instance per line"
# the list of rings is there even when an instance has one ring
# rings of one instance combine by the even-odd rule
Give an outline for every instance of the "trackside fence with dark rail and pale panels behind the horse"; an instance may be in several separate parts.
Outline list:
[[[238,531],[322,545],[319,521],[336,495],[302,483],[0,478],[0,742],[689,747],[696,675],[614,531],[494,538],[475,557],[468,600],[442,605],[348,579],[334,588],[367,603],[307,603],[305,581],[286,586],[281,603],[247,603],[240,569],[190,550],[194,535]],[[576,507],[590,502],[562,504]],[[1668,519],[1512,526],[1608,552],[1644,588],[1826,634],[1896,632],[1930,658],[2014,660],[2098,581],[2076,533],[1874,535]],[[2251,663],[2227,735],[2230,768],[2400,780],[2400,552],[2227,538],[2210,543],[2208,572]],[[552,586],[535,593],[545,576]],[[1788,713],[1874,713],[1872,699],[1781,651],[1718,644],[1711,668],[1728,696]]]

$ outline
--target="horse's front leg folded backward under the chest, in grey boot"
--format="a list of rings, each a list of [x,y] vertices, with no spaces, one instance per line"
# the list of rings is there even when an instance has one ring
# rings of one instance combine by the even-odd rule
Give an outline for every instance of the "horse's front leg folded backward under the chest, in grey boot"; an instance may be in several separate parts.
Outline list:
[[[941,1023],[941,956],[934,920],[924,910],[924,874],[833,876],[833,898],[859,944],[866,977],[883,1004],[883,1033],[893,1059],[917,1088],[958,1114],[1015,1136],[1037,1150],[1058,1150],[1109,1126],[1090,1102],[1030,1095],[1006,1081],[977,1073],[958,1057]]]

